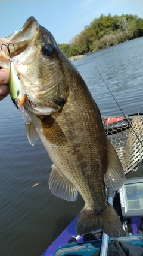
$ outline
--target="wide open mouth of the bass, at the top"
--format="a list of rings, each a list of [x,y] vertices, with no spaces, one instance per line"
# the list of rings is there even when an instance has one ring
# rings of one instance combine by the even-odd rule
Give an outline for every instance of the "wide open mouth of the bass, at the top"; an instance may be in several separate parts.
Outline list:
[[[11,57],[19,55],[26,49],[30,42],[35,40],[39,34],[39,27],[40,25],[35,17],[32,16],[26,20],[23,28],[8,42],[12,43],[10,45]]]

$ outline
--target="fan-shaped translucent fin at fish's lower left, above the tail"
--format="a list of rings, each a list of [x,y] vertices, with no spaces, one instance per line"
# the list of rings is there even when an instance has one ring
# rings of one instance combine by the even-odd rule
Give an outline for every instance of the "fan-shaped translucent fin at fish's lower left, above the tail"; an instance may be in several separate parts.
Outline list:
[[[49,177],[49,188],[52,194],[64,200],[75,201],[77,199],[78,192],[76,188],[60,173],[54,164]]]

